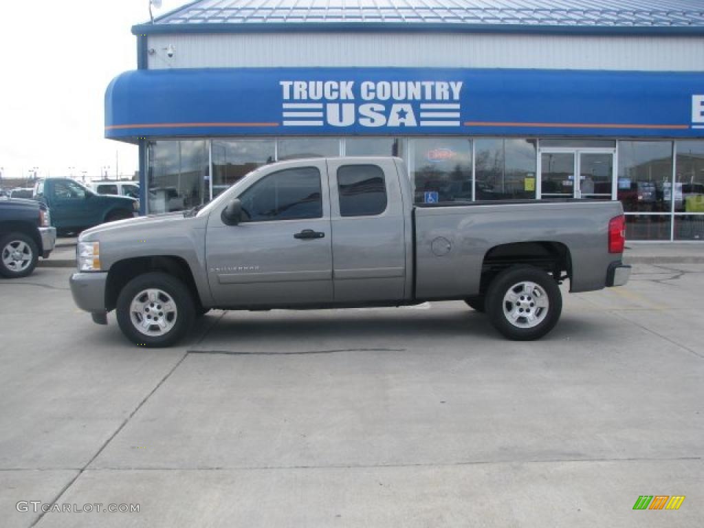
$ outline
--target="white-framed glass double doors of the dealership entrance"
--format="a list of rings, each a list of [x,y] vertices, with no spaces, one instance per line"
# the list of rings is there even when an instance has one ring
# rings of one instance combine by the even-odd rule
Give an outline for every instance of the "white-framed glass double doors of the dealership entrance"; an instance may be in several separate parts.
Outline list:
[[[612,199],[614,152],[541,149],[541,198]]]

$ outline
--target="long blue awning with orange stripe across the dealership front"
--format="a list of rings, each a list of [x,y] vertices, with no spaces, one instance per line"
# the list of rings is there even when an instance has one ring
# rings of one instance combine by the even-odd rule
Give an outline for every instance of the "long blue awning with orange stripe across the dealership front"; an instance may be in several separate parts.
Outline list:
[[[704,137],[704,73],[438,68],[137,70],[105,135]]]

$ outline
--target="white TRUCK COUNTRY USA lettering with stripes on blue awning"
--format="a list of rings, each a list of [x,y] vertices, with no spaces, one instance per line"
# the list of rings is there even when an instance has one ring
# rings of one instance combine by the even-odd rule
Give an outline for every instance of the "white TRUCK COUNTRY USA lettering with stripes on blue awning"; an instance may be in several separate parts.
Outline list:
[[[462,81],[291,80],[279,85],[284,127],[460,126]]]

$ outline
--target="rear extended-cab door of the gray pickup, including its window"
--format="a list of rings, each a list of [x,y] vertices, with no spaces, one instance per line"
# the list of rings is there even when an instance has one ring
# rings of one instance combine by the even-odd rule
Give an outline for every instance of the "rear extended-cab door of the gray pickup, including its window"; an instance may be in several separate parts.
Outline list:
[[[391,159],[329,160],[335,302],[404,298],[406,240]]]

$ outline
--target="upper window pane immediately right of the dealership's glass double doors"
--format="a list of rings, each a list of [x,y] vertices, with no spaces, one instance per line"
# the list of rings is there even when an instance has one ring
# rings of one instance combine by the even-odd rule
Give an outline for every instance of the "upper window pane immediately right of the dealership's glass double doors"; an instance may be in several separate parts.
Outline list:
[[[627,213],[670,213],[672,142],[619,142],[617,186]]]

